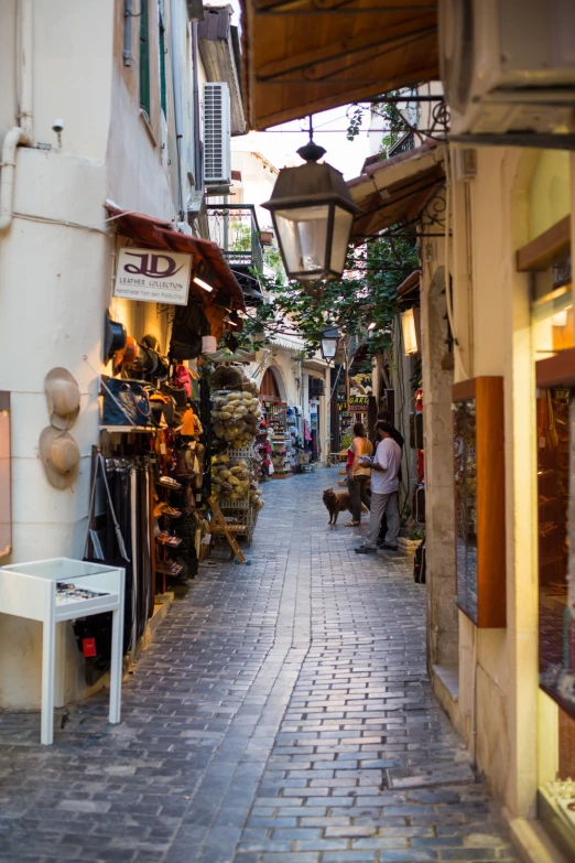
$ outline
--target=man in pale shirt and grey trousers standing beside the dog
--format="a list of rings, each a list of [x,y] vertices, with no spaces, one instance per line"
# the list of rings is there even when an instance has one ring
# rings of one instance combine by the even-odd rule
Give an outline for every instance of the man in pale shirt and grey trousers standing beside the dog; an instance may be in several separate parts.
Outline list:
[[[388,532],[386,548],[398,548],[399,508],[398,508],[398,473],[401,465],[401,446],[392,438],[393,427],[389,422],[380,421],[376,424],[376,434],[379,438],[376,455],[371,467],[371,516],[369,519],[369,533],[364,546],[356,549],[357,554],[369,554],[377,551],[379,528],[383,513],[388,519]]]

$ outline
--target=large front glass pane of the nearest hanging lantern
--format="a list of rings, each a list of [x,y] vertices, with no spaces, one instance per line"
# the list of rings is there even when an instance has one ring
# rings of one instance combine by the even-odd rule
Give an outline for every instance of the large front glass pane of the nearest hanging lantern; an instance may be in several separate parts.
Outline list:
[[[279,239],[289,273],[299,278],[317,278],[326,269],[326,244],[329,205],[293,207],[274,213]],[[303,273],[303,274],[302,274]]]

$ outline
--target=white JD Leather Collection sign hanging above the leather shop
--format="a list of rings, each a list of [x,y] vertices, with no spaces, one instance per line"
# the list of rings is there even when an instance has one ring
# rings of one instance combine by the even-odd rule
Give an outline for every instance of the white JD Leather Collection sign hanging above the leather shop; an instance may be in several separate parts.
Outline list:
[[[113,295],[144,303],[186,305],[192,255],[120,249]]]

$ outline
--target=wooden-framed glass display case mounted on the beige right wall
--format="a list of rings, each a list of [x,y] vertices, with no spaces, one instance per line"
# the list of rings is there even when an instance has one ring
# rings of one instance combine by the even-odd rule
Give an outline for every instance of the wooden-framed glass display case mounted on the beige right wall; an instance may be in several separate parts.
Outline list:
[[[502,378],[453,391],[457,606],[478,627],[506,626]]]

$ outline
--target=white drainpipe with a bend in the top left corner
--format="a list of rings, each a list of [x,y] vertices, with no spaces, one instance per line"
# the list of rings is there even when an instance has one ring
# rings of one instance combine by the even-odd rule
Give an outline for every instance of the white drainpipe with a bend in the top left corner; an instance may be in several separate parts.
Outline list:
[[[32,147],[32,57],[33,57],[33,29],[32,29],[33,0],[20,0],[20,51],[19,51],[19,77],[20,77],[20,110],[21,126],[10,129],[2,141],[0,161],[0,234],[6,231],[12,222],[12,206],[14,201],[14,175],[17,162],[17,148],[19,145]]]

